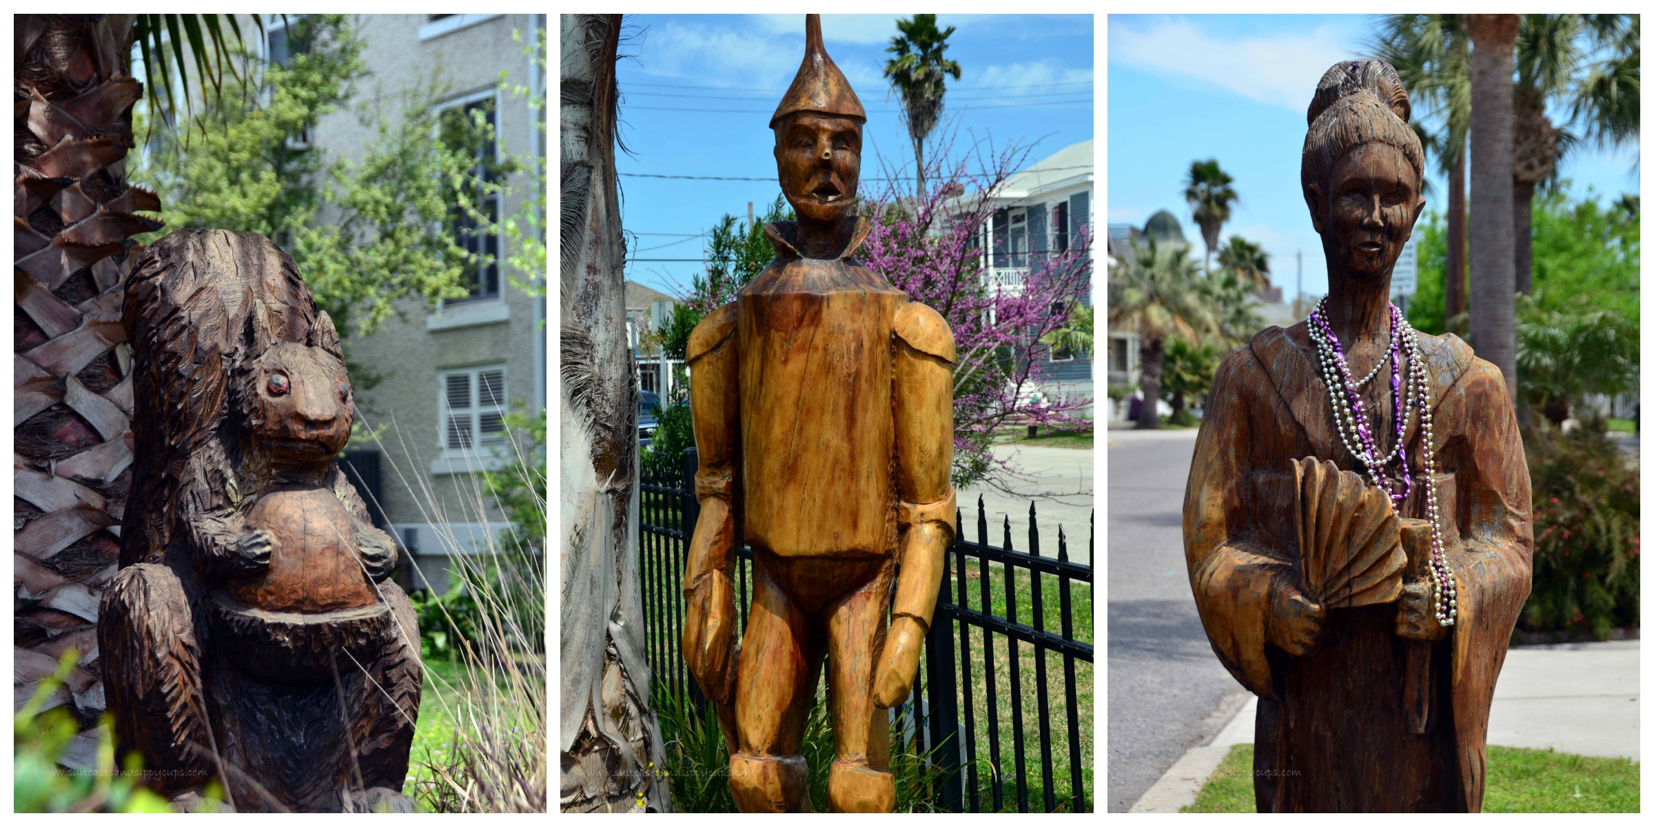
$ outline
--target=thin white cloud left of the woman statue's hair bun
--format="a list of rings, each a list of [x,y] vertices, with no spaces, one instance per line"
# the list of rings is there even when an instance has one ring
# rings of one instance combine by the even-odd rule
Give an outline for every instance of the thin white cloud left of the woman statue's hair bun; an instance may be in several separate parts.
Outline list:
[[[1108,60],[1302,112],[1327,68],[1355,58],[1341,46],[1346,36],[1348,30],[1331,23],[1303,35],[1237,40],[1209,35],[1189,20],[1163,20],[1143,30],[1111,22]]]

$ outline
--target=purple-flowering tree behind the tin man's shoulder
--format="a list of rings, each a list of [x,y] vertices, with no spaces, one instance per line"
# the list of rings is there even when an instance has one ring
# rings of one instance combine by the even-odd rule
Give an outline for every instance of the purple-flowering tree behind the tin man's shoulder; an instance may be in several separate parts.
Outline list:
[[[1004,425],[1088,425],[1080,418],[1092,399],[1052,392],[1044,379],[1049,332],[1065,327],[1068,313],[1092,289],[1090,233],[1070,233],[1067,250],[1029,255],[1021,284],[991,284],[979,243],[984,225],[1004,205],[1001,194],[1029,149],[994,152],[982,144],[953,152],[954,134],[926,152],[925,180],[885,169],[883,190],[867,200],[873,218],[857,258],[930,304],[953,327],[958,361],[953,379],[956,486],[1012,471],[991,452]],[[978,172],[971,172],[976,169]]]

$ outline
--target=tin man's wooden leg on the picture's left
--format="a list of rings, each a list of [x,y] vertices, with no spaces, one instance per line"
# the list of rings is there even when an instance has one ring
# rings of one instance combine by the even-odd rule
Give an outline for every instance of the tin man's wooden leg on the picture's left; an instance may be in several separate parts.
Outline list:
[[[801,746],[815,700],[822,647],[809,615],[769,576],[766,554],[753,566],[753,609],[736,675],[741,749],[729,756],[729,791],[741,812],[809,812]]]

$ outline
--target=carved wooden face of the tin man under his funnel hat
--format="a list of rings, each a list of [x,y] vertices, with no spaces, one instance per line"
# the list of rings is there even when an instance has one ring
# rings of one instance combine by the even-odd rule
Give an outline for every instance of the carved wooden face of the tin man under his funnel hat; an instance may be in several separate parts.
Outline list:
[[[862,124],[822,112],[787,116],[776,124],[776,174],[799,217],[844,218],[862,177]]]

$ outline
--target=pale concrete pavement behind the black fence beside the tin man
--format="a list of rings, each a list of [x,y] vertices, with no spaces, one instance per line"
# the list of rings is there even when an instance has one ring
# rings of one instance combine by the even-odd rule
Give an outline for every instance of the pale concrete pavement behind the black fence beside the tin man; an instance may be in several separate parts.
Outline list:
[[[1097,498],[1095,452],[1080,448],[1047,448],[1039,445],[996,445],[994,457],[1011,460],[1025,476],[1009,481],[1004,493],[979,485],[959,491],[959,509],[964,539],[976,539],[976,498],[987,509],[987,541],[1004,543],[1006,516],[1011,516],[1011,543],[1017,551],[1029,549],[1029,500],[1039,514],[1040,554],[1057,556],[1057,526],[1068,538],[1068,559],[1092,562],[1087,541],[1092,536],[1092,508]]]

